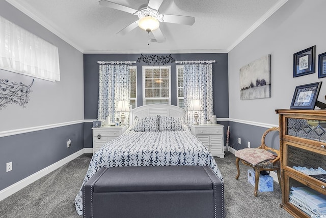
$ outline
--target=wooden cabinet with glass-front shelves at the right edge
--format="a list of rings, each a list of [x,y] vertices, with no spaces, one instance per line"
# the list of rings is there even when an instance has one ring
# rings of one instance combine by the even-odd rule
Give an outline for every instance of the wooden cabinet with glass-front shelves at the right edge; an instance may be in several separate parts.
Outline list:
[[[280,124],[281,206],[294,217],[320,217],[312,216],[314,213],[305,207],[314,207],[312,196],[326,199],[326,183],[321,178],[324,173],[320,172],[326,170],[326,110],[282,109],[276,113]],[[312,175],[315,173],[320,175]],[[301,190],[311,193],[298,203]],[[326,205],[321,207],[326,210]]]

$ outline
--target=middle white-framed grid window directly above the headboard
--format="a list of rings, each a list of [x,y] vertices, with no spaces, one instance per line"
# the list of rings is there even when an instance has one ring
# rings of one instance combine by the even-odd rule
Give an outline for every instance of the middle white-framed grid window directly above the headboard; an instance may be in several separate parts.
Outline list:
[[[143,105],[171,104],[171,66],[143,66]]]

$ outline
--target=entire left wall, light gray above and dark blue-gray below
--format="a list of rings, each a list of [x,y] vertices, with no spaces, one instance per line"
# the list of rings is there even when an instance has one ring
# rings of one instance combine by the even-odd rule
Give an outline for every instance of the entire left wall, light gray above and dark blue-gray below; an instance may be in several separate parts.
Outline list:
[[[0,70],[0,79],[30,84],[30,101],[0,110],[0,133],[84,119],[83,54],[39,23],[0,0],[0,16],[59,48],[60,82]],[[84,123],[0,137],[0,190],[84,147]],[[72,146],[67,148],[66,141]],[[6,172],[6,163],[13,170]]]

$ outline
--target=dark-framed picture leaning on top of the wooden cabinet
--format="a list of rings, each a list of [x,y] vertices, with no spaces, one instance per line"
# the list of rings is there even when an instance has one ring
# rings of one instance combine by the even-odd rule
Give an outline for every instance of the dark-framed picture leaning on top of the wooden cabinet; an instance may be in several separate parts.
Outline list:
[[[320,86],[321,82],[296,86],[290,109],[315,109]]]

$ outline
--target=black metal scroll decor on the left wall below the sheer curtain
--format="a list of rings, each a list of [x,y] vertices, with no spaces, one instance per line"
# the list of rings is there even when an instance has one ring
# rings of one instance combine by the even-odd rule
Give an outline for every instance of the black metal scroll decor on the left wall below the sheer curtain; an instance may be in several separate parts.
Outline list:
[[[30,101],[29,94],[32,92],[33,82],[34,79],[30,85],[24,85],[22,82],[9,82],[8,79],[0,80],[0,110],[12,103],[26,108],[25,104]]]

